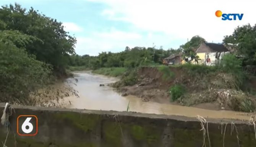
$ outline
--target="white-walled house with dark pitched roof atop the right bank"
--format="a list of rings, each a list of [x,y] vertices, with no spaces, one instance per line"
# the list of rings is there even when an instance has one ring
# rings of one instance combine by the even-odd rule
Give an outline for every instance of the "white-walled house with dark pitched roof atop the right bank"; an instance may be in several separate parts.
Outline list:
[[[215,65],[221,58],[230,51],[220,43],[202,42],[196,49],[196,54],[199,56],[199,64]]]

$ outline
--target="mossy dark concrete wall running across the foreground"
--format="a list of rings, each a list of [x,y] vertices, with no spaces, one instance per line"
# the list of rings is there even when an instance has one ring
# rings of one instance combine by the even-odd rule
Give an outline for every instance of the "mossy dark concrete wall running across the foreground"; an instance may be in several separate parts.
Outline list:
[[[2,109],[3,106],[4,104],[1,104]],[[15,147],[14,134],[16,134],[16,147],[202,147],[203,145],[203,131],[200,131],[200,122],[195,118],[133,112],[13,107],[15,114],[10,118],[12,131],[7,139],[7,147]],[[16,133],[18,115],[37,115],[36,136],[18,136]],[[223,142],[225,147],[239,147],[239,145],[256,147],[254,128],[248,123],[238,120],[207,120],[211,147],[223,147]],[[234,129],[230,123],[232,121],[236,126]],[[0,131],[0,139],[4,142],[6,129],[1,126]],[[207,134],[205,142],[209,147]]]

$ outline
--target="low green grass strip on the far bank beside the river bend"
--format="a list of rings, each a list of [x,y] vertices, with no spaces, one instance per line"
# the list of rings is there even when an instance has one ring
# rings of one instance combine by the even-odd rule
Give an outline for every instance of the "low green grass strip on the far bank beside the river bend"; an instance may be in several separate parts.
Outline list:
[[[127,69],[124,67],[112,67],[112,68],[99,68],[92,71],[95,74],[103,74],[105,76],[118,77],[122,76]]]

